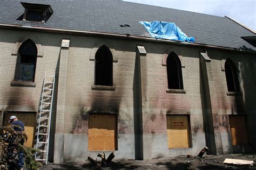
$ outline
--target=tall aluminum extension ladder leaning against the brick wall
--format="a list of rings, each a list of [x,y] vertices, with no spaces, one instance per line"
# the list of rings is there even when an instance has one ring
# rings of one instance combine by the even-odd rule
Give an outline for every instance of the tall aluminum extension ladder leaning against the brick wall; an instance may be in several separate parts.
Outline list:
[[[48,162],[54,84],[55,75],[47,75],[45,72],[36,140],[36,148],[40,151],[35,154],[35,159],[45,161],[46,165]]]

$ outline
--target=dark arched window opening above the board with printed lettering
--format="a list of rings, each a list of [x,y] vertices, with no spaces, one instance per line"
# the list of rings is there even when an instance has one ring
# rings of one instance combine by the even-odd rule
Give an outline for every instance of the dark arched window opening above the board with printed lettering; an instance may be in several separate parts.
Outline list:
[[[181,62],[178,55],[171,52],[166,61],[169,89],[183,89]]]

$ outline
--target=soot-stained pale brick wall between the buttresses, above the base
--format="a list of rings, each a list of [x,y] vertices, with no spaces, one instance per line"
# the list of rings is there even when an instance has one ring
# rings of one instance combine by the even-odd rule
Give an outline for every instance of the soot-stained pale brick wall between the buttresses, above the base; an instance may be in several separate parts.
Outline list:
[[[32,34],[42,45],[43,56],[37,58],[35,74],[36,87],[10,86],[14,79],[17,55],[12,55],[16,42]],[[88,115],[93,112],[110,112],[118,115],[118,134],[134,133],[134,117],[139,114],[138,68],[136,68],[136,46],[143,45],[147,51],[147,94],[149,95],[149,115],[143,116],[143,124],[151,134],[166,134],[166,114],[190,115],[192,137],[204,133],[203,114],[205,101],[199,52],[203,48],[178,46],[166,43],[100,38],[57,33],[4,30],[0,32],[0,107],[7,110],[38,111],[44,72],[56,72],[56,84],[60,74],[60,44],[63,38],[70,39],[68,51],[68,72],[66,74],[65,134],[87,134]],[[113,56],[113,86],[115,90],[92,90],[95,75],[95,61],[90,59],[99,44],[111,48]],[[185,93],[168,93],[167,73],[163,58],[166,52],[174,51],[182,59],[183,84]],[[214,88],[217,91],[217,110],[220,129],[229,131],[228,114],[246,114],[250,141],[255,141],[255,77],[253,75],[252,54],[224,52],[208,49],[213,69]],[[240,69],[241,96],[226,94],[225,72],[221,62],[226,57],[237,62]],[[57,88],[53,103],[52,130],[55,132]],[[58,119],[57,118],[57,119]],[[255,122],[255,121],[254,121]],[[57,120],[58,123],[58,120]],[[136,122],[135,123],[139,123]],[[224,128],[221,128],[224,127]],[[195,138],[196,139],[196,138]],[[205,139],[203,139],[205,140]],[[254,142],[255,144],[255,142]]]

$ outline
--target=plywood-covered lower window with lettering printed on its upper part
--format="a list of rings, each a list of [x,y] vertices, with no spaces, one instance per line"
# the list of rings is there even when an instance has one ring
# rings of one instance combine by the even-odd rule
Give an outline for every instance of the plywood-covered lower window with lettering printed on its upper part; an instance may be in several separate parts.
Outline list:
[[[168,148],[190,147],[187,115],[167,115]]]

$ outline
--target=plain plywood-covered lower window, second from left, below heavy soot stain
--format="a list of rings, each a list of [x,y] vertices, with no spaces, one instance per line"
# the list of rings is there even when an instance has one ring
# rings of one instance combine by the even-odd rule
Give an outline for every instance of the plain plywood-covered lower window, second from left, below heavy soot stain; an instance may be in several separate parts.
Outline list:
[[[117,115],[90,114],[88,150],[117,150]]]

